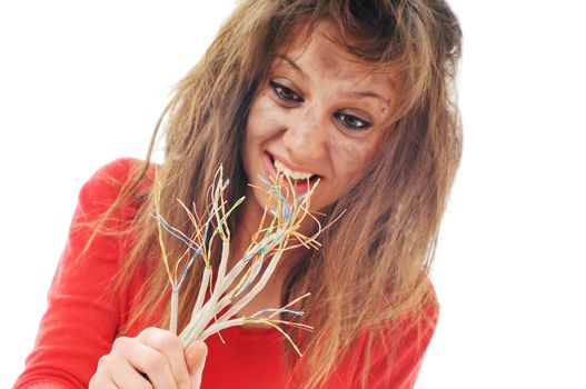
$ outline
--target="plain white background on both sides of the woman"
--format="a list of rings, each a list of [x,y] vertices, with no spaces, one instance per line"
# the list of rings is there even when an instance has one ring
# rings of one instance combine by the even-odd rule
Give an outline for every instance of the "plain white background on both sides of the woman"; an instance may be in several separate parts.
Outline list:
[[[450,3],[465,33],[464,159],[417,389],[584,389],[584,6]],[[169,87],[232,7],[0,3],[0,387],[32,348],[80,186],[145,156]]]

